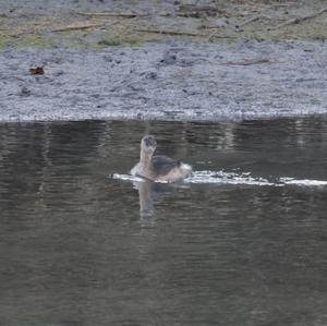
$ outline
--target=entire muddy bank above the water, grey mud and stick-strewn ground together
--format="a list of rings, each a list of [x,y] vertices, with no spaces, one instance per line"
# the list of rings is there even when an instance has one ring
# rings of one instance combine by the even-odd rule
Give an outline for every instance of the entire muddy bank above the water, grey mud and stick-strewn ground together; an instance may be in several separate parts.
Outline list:
[[[181,15],[181,1],[2,3],[0,121],[327,112],[323,1],[202,2],[217,12]],[[310,19],[288,24],[299,16]],[[31,75],[36,67],[45,74]]]

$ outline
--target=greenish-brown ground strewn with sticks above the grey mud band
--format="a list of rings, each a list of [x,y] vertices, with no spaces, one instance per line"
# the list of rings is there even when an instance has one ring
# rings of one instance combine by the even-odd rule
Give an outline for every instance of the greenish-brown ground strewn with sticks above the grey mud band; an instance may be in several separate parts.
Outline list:
[[[327,4],[303,1],[11,0],[0,3],[0,48],[104,48],[158,39],[211,43],[325,40]]]

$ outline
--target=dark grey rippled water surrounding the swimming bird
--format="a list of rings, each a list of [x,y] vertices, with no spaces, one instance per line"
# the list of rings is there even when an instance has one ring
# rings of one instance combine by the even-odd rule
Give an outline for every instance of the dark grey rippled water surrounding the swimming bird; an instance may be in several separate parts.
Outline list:
[[[146,133],[195,176],[269,182],[113,178]],[[1,325],[327,325],[326,116],[8,123],[0,145]]]

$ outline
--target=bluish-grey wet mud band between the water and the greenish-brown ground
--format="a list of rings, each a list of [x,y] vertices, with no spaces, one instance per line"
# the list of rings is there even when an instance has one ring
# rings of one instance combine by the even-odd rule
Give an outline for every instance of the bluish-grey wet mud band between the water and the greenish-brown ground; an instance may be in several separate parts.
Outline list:
[[[235,121],[327,112],[327,45],[150,43],[1,51],[1,121]],[[31,67],[45,65],[44,75]]]

